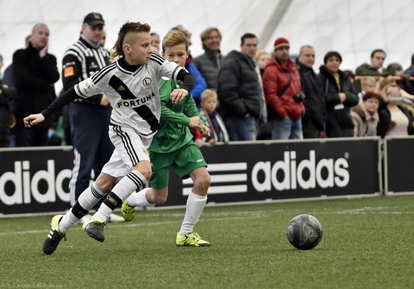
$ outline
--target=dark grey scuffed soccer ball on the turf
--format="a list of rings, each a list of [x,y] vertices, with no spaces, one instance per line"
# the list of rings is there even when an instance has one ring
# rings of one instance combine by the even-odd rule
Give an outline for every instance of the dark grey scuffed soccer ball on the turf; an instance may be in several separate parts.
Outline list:
[[[293,247],[310,250],[322,239],[322,225],[312,215],[297,215],[290,220],[286,235]]]

